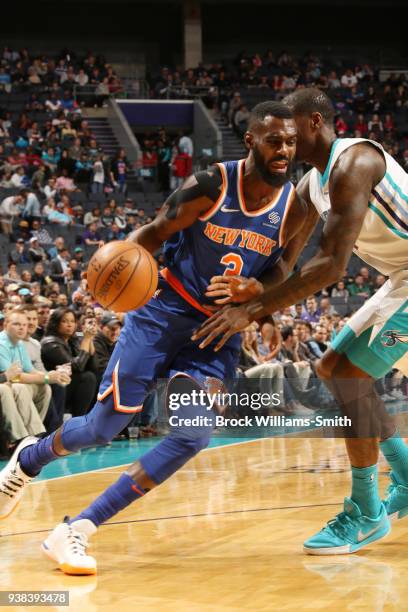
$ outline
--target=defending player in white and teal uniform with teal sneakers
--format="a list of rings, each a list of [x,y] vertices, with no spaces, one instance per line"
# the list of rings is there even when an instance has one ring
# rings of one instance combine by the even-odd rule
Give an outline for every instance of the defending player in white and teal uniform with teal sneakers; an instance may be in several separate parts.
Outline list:
[[[384,537],[389,517],[408,515],[408,448],[374,388],[393,367],[408,374],[408,175],[376,142],[336,139],[330,99],[302,89],[285,99],[298,128],[297,157],[314,166],[299,185],[309,219],[326,219],[317,254],[279,288],[206,321],[195,338],[218,348],[254,319],[296,304],[343,276],[353,249],[389,276],[336,336],[318,372],[354,430],[346,439],[352,492],[344,512],[305,542],[310,554],[342,554]],[[314,206],[313,206],[314,205]],[[401,336],[402,334],[402,336]],[[391,340],[390,340],[391,339]],[[382,440],[379,444],[379,439]],[[388,497],[377,484],[379,446],[392,468]]]

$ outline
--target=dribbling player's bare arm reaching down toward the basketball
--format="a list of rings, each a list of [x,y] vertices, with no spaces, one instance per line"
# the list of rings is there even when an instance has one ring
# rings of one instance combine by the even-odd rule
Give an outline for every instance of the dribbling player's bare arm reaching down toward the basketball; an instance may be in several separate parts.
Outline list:
[[[210,210],[219,199],[222,187],[218,166],[193,174],[168,197],[157,217],[133,232],[129,240],[154,253],[173,234],[190,227]]]

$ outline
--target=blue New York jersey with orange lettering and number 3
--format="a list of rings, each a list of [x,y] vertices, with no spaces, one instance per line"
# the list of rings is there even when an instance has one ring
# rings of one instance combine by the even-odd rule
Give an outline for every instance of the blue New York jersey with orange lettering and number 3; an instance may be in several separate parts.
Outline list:
[[[285,183],[273,201],[248,211],[243,193],[245,160],[217,165],[223,179],[217,202],[164,245],[163,276],[201,309],[211,303],[204,294],[212,276],[258,278],[278,261],[284,247],[282,229],[295,194],[293,185]]]

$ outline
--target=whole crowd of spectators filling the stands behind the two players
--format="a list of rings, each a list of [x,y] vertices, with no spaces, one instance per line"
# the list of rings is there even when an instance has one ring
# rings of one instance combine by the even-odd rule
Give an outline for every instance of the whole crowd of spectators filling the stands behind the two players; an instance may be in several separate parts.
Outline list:
[[[0,109],[2,95],[6,96],[10,87],[24,90],[27,107],[17,116],[1,111],[0,119],[0,454],[7,454],[10,445],[25,435],[51,431],[70,415],[85,414],[92,407],[123,316],[106,312],[94,302],[83,273],[101,244],[124,239],[152,220],[127,192],[124,151],[114,160],[106,159],[82,117],[81,105],[65,86],[79,74],[82,78],[81,70],[88,76],[108,70],[105,64],[95,63],[92,55],[83,61],[63,57],[52,63],[30,59],[25,52],[17,55],[6,50],[3,54]],[[245,112],[234,89],[237,83],[249,88],[253,79],[269,88],[269,96],[282,96],[295,86],[311,84],[310,79],[329,88],[335,99],[336,92],[347,90],[354,96],[354,88],[358,92],[374,87],[380,103],[369,112],[379,118],[372,119],[370,125],[367,122],[367,132],[362,123],[356,129],[371,136],[382,131],[384,139],[391,124],[383,113],[393,119],[398,109],[406,108],[405,98],[400,96],[406,85],[399,84],[401,79],[398,84],[380,86],[373,71],[364,66],[340,74],[338,85],[335,75],[326,79],[317,58],[308,57],[305,66],[307,77],[301,64],[294,63],[288,54],[242,57],[234,73],[239,75],[238,81],[219,66],[219,111],[232,123],[236,112]],[[269,72],[263,74],[266,68]],[[190,77],[200,78],[199,84],[204,86],[206,79],[215,79],[214,71],[215,67],[200,76],[199,68]],[[36,94],[37,77],[41,86],[47,84],[45,98],[43,92]],[[225,91],[232,92],[225,99],[220,96],[221,81],[228,83]],[[160,82],[153,88],[158,95]],[[389,106],[384,106],[379,92],[382,88],[384,93],[388,86],[393,95],[388,96]],[[358,99],[359,104],[366,104],[371,98],[364,95]],[[367,109],[353,106],[351,110],[351,102],[344,100],[349,106],[338,109],[339,116],[348,120],[347,129],[352,125],[351,112],[358,113],[356,117],[362,114],[361,122],[366,120]],[[42,105],[40,110],[37,105]],[[37,120],[38,112],[43,116],[41,121]],[[396,138],[395,129],[390,133]],[[155,161],[164,192],[179,186],[192,171],[193,141],[188,134],[172,137],[161,129],[157,134],[145,134],[143,148],[144,165]],[[161,255],[158,263],[162,264]],[[316,360],[350,314],[385,280],[363,266],[317,296],[251,325],[242,335],[238,384],[263,381],[267,392],[280,394],[279,410],[287,415],[330,409],[333,399],[317,379]],[[398,371],[377,385],[387,401],[406,398],[406,380]],[[152,435],[156,416],[157,396],[151,394],[133,425],[140,426],[143,435]]]

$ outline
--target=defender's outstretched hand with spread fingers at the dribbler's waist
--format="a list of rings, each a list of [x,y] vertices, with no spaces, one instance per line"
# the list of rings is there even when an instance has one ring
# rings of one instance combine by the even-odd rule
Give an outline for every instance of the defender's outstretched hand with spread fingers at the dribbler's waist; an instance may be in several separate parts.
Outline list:
[[[199,344],[199,348],[203,349],[221,336],[221,340],[214,347],[214,351],[218,351],[231,336],[248,327],[253,320],[245,304],[225,306],[196,329],[191,339],[195,341],[205,338]]]

